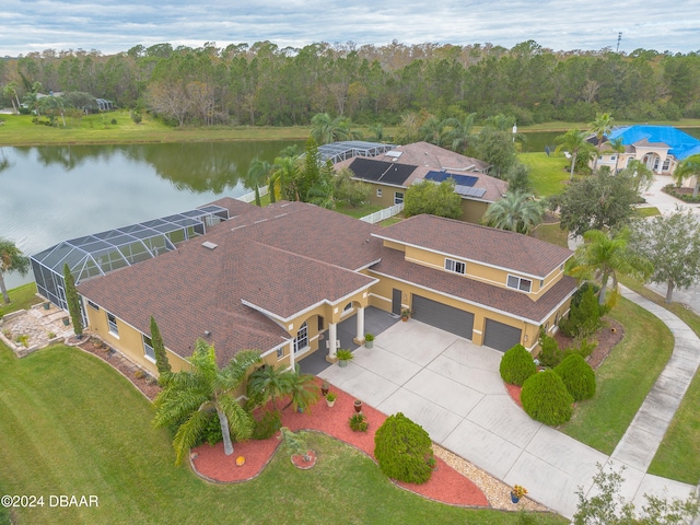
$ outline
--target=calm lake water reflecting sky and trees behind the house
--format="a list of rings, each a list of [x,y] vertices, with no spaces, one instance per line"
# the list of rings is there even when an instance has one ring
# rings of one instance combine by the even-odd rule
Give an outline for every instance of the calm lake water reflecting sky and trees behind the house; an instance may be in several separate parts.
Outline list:
[[[293,143],[0,148],[0,236],[34,255],[63,240],[238,197],[249,191],[253,158],[272,162]],[[5,276],[9,289],[32,280]]]

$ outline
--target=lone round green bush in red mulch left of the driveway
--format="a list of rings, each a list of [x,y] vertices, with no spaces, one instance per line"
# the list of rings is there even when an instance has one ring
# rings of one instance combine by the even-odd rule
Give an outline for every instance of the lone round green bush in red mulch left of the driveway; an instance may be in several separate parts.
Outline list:
[[[389,478],[408,483],[424,483],[432,468],[432,442],[428,432],[401,412],[389,416],[374,434],[374,457]]]

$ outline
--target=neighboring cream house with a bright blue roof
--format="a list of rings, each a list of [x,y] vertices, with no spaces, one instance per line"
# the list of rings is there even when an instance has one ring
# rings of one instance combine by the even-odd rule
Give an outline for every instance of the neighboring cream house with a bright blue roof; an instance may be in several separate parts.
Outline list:
[[[625,152],[610,151],[610,142],[615,139],[622,139]],[[595,136],[588,141],[597,145]],[[670,126],[625,126],[604,137],[599,152],[598,167],[609,166],[615,172],[616,167],[623,170],[630,161],[637,160],[656,174],[670,175],[681,161],[700,153],[700,140]]]

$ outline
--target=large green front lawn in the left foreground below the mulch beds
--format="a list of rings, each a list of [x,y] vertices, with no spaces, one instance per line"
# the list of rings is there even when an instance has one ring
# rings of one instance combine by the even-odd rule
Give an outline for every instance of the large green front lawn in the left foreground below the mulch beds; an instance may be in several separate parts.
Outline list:
[[[97,509],[19,509],[19,523],[479,523],[520,516],[428,501],[395,487],[364,454],[322,434],[318,464],[279,452],[256,479],[212,485],[174,466],[151,405],[106,363],[57,346],[22,360],[0,347],[0,487],[98,497]],[[539,515],[536,523],[565,523]]]

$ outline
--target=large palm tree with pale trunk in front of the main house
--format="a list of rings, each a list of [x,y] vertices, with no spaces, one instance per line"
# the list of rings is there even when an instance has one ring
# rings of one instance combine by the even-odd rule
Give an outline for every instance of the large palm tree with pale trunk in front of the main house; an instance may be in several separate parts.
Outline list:
[[[215,411],[221,424],[224,453],[233,454],[231,434],[236,440],[250,436],[253,421],[235,397],[248,369],[260,362],[260,353],[243,350],[220,369],[214,347],[203,339],[195,343],[189,359],[191,371],[180,371],[168,380],[154,401],[156,427],[178,425],[173,447],[179,464],[203,432]]]

